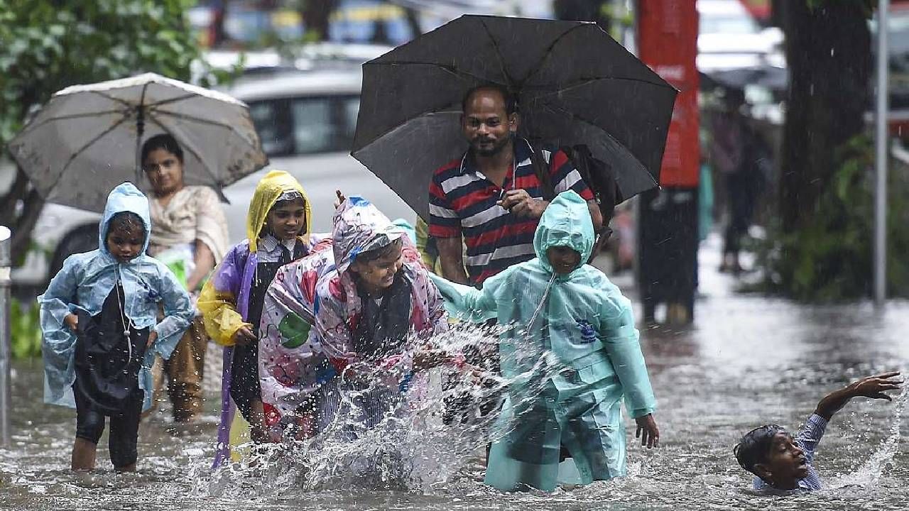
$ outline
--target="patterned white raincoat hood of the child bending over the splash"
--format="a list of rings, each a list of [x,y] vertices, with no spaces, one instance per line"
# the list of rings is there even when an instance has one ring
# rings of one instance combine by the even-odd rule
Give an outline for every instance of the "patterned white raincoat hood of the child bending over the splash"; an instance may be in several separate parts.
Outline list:
[[[388,245],[402,235],[404,232],[373,203],[359,195],[347,197],[335,211],[332,229],[338,273],[347,271],[357,255]]]

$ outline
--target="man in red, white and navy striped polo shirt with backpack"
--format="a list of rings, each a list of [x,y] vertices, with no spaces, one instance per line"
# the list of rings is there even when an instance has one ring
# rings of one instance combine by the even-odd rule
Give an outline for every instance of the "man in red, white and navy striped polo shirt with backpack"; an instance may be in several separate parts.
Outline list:
[[[501,85],[481,85],[461,106],[470,148],[433,175],[429,235],[436,238],[445,278],[482,286],[508,266],[534,258],[534,231],[548,202],[531,163],[534,148],[515,135],[519,116],[513,96]],[[599,230],[603,217],[571,160],[562,151],[541,152],[555,193],[571,189],[584,197]]]

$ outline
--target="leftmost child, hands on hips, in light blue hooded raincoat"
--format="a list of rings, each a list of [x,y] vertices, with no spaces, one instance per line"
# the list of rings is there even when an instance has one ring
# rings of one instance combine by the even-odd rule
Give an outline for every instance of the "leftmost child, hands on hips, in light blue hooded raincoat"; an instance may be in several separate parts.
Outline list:
[[[134,471],[155,355],[171,355],[194,311],[174,274],[145,255],[151,219],[134,185],[108,195],[98,231],[99,248],[67,257],[38,296],[45,402],[75,406],[73,470],[95,468],[107,416],[111,462],[117,471]]]

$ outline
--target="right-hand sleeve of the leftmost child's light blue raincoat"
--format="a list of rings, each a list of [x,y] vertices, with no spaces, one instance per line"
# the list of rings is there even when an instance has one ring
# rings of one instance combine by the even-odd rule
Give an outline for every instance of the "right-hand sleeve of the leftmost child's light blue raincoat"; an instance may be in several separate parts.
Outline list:
[[[189,299],[189,293],[177,280],[174,272],[160,261],[155,261],[155,263],[158,266],[158,276],[160,277],[157,291],[158,296],[161,296],[165,317],[154,327],[158,338],[149,351],[167,359],[174,353],[176,344],[193,321],[195,309]],[[146,358],[148,356],[148,354],[145,355]]]

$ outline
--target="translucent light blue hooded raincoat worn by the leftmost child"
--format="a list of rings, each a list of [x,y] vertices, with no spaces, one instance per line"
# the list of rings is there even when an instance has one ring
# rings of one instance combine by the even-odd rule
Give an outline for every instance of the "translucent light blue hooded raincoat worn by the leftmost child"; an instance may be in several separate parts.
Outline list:
[[[142,255],[128,263],[118,263],[107,251],[105,235],[112,216],[123,211],[139,215],[145,224],[145,246]],[[83,309],[95,316],[101,312],[105,298],[123,282],[125,313],[136,328],[152,327],[157,332],[155,344],[145,350],[139,373],[139,388],[145,391],[143,409],[152,406],[152,373],[155,356],[168,358],[183,336],[195,312],[189,294],[173,272],[157,259],[145,255],[151,232],[148,199],[132,183],[118,185],[107,196],[105,214],[98,228],[98,248],[70,255],[63,268],[51,279],[45,294],[38,296],[41,307],[41,329],[44,333],[42,353],[45,360],[45,403],[75,407],[75,333],[64,318]],[[164,319],[158,321],[159,306],[164,306]]]

